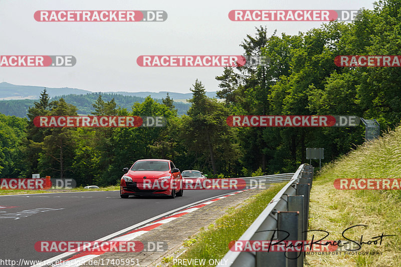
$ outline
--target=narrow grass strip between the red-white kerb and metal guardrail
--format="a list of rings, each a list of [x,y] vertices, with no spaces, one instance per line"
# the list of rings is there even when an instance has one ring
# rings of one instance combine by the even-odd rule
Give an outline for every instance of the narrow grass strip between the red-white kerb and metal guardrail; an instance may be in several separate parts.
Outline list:
[[[284,184],[286,183],[271,185],[263,192],[245,200],[245,204],[238,209],[229,208],[227,214],[219,218],[215,224],[210,224],[208,229],[184,241],[184,246],[189,248],[179,258],[204,258],[206,262],[209,259],[223,258],[229,250],[230,241],[241,237]]]

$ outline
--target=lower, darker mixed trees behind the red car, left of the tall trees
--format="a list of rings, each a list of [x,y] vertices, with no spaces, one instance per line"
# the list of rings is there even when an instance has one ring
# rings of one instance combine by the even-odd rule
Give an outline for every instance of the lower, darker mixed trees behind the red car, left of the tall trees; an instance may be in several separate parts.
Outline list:
[[[0,155],[2,177],[42,176],[74,178],[78,184],[115,184],[123,167],[140,158],[171,158],[182,170],[197,168],[213,172],[230,168],[239,159],[235,129],[226,124],[228,109],[206,96],[195,81],[188,115],[177,116],[167,95],[158,103],[150,96],[130,110],[117,108],[114,98],[99,95],[92,115],[164,116],[165,127],[137,128],[45,128],[33,120],[44,115],[77,115],[77,107],[64,98],[50,101],[46,90],[29,108],[28,119],[1,114],[4,144]],[[18,123],[17,123],[18,122]],[[231,173],[233,173],[231,171]]]

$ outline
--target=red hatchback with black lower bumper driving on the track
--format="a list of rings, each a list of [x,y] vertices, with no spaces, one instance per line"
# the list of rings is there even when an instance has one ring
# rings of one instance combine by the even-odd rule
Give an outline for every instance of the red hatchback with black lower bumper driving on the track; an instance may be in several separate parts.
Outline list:
[[[121,177],[120,196],[169,195],[182,196],[183,185],[179,169],[168,159],[140,159]]]

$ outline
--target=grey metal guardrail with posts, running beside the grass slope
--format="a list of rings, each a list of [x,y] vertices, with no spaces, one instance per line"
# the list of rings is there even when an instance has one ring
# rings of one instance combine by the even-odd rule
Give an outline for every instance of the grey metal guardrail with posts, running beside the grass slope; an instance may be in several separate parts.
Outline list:
[[[312,186],[312,179],[313,167],[309,164],[300,165],[297,171],[293,173],[290,181],[273,197],[239,240],[284,239],[283,236],[280,236],[280,231],[275,230],[289,232],[290,235],[286,238],[287,240],[306,240],[309,191]],[[286,252],[285,254],[284,252],[229,250],[217,267],[260,267],[267,266],[267,264],[275,267],[303,266],[304,253],[302,252],[298,258],[295,258],[296,255],[294,257],[294,253],[297,252]],[[289,259],[286,255],[295,259]]]

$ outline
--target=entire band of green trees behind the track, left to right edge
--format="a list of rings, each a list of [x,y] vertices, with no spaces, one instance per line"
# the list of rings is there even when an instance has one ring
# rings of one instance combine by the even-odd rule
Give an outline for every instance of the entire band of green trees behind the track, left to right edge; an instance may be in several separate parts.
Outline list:
[[[399,67],[338,67],[337,55],[397,55],[401,52],[401,0],[378,1],[357,20],[331,21],[297,35],[269,36],[266,27],[240,44],[247,55],[270,58],[264,66],[225,68],[218,96],[205,94],[202,82],[191,88],[187,115],[177,116],[170,97],[150,97],[129,108],[98,96],[94,115],[162,115],[162,128],[37,128],[36,115],[75,115],[64,98],[46,93],[28,119],[5,117],[0,134],[0,174],[40,172],[74,177],[78,183],[113,184],[121,169],[140,158],[170,158],[182,169],[215,176],[294,171],[306,162],[307,147],[324,147],[329,161],[364,141],[357,127],[230,127],[229,115],[357,115],[376,118],[382,129],[401,118]],[[14,125],[16,124],[16,125]],[[9,136],[10,135],[10,136]],[[6,138],[6,139],[4,139]],[[5,146],[4,146],[5,145]]]

